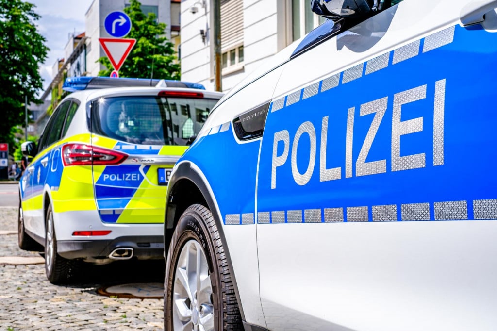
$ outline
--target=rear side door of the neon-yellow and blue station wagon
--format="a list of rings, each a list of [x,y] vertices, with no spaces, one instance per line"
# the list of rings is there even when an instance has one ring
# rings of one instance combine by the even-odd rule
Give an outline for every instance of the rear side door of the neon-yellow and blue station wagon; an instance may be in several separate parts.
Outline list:
[[[60,146],[55,143],[59,141],[71,100],[62,102],[52,114],[50,121],[42,134],[38,155],[28,166],[31,179],[31,208],[32,208],[32,231],[40,236],[45,236],[44,215],[44,187],[47,177],[54,172],[52,164],[60,160]]]

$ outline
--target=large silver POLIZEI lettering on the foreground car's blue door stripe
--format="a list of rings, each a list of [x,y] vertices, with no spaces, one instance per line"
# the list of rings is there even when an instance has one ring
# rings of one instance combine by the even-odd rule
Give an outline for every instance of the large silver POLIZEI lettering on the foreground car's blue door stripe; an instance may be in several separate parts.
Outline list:
[[[435,93],[433,100],[433,149],[424,151],[425,153],[401,155],[401,137],[423,131],[423,117],[402,120],[403,106],[416,101],[426,99],[427,85],[411,88],[394,94],[393,109],[392,109],[392,126],[391,126],[391,146],[382,146],[384,150],[391,150],[390,153],[390,169],[387,169],[387,160],[371,160],[366,161],[370,149],[375,141],[378,129],[382,127],[382,121],[385,118],[389,97],[385,96],[370,102],[360,105],[358,111],[359,116],[374,114],[374,117],[369,126],[369,130],[361,143],[359,154],[353,153],[354,139],[354,116],[356,115],[355,107],[347,110],[346,121],[346,136],[341,142],[345,143],[345,155],[343,155],[343,163],[333,167],[327,166],[327,140],[328,126],[332,119],[329,116],[322,118],[320,127],[306,121],[302,123],[291,140],[288,130],[282,130],[274,133],[272,162],[271,162],[271,189],[276,188],[277,170],[278,167],[286,164],[290,156],[291,171],[295,183],[298,185],[306,185],[317,168],[316,163],[319,163],[319,178],[320,182],[341,179],[342,176],[350,178],[353,176],[355,165],[355,176],[366,176],[390,171],[402,171],[415,168],[424,168],[426,166],[426,153],[433,153],[433,166],[443,165],[444,163],[444,105],[445,105],[445,80],[435,82]],[[345,124],[345,123],[344,123]],[[320,130],[321,129],[321,130]],[[321,131],[321,132],[320,132]],[[302,136],[306,135],[309,138],[310,145],[305,144],[305,148],[309,151],[304,152],[309,155],[309,160],[299,170],[297,167],[297,155],[299,141]],[[355,137],[357,139],[357,137]],[[307,139],[306,139],[307,140]],[[283,144],[283,149],[279,149],[278,144]],[[357,141],[354,142],[357,147]],[[302,144],[301,144],[302,145]],[[357,155],[353,160],[353,155]],[[319,158],[319,160],[316,160]],[[304,170],[301,173],[301,170]]]

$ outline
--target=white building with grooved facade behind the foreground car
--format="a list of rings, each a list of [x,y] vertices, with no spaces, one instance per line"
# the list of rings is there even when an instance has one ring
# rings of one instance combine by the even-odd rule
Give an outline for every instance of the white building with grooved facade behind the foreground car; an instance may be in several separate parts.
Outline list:
[[[181,80],[214,89],[212,1],[181,2]],[[310,0],[221,0],[222,89],[229,90],[264,60],[324,19]]]

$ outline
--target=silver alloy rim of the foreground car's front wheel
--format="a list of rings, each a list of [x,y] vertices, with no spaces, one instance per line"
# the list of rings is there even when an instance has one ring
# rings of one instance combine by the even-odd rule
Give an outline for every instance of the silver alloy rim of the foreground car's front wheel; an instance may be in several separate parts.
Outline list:
[[[181,249],[172,290],[174,330],[214,330],[211,275],[197,241],[190,240]]]

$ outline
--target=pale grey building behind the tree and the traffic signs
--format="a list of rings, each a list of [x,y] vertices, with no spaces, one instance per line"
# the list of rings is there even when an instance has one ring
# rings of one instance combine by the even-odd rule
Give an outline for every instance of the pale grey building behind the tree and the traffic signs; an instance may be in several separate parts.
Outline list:
[[[105,67],[96,61],[105,55],[98,38],[111,37],[104,27],[105,17],[113,11],[122,11],[129,6],[129,0],[93,0],[85,13],[86,28],[86,70],[88,76],[98,76]],[[140,0],[142,11],[156,14],[159,22],[166,23],[166,36],[179,44],[179,0]],[[171,18],[172,13],[172,18]],[[132,22],[133,23],[133,22]],[[172,39],[171,39],[172,37]]]

